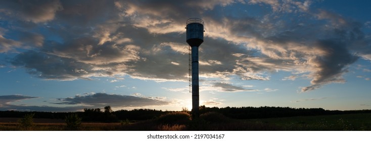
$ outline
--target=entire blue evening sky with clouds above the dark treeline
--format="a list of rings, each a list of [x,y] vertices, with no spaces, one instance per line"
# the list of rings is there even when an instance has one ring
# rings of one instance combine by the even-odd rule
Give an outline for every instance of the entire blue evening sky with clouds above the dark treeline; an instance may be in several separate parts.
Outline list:
[[[371,109],[371,1],[0,1],[0,110]]]

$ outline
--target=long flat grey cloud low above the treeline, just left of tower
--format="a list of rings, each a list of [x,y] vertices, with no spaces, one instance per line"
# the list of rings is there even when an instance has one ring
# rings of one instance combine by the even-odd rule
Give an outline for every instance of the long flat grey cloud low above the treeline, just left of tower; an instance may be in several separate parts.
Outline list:
[[[95,93],[92,95],[84,96],[76,95],[73,98],[60,98],[58,100],[61,102],[56,102],[53,104],[84,105],[94,107],[102,107],[105,105],[110,105],[112,107],[141,107],[169,104],[169,102],[159,100],[158,98],[115,95],[106,93]]]

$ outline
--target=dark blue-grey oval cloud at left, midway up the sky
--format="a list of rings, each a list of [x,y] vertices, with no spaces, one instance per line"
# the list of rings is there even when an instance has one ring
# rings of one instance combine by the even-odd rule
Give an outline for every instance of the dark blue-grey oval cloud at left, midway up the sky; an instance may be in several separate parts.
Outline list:
[[[47,80],[89,79],[91,75],[100,74],[92,70],[91,65],[74,59],[31,50],[15,56],[12,64],[22,66],[29,74]]]

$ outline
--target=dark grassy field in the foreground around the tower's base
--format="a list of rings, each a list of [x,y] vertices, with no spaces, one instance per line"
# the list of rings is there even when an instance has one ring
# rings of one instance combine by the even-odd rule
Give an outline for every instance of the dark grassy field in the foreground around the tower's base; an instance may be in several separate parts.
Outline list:
[[[22,127],[16,118],[0,119],[0,130],[71,130],[64,120],[34,119]],[[371,113],[323,116],[297,116],[265,119],[230,119],[219,113],[206,113],[191,120],[188,113],[174,112],[146,121],[84,123],[73,130],[371,130]]]

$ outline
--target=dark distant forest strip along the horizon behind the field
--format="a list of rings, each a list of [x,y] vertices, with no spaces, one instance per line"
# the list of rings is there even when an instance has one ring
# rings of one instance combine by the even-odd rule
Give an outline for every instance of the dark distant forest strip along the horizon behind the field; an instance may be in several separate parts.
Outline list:
[[[21,118],[26,114],[34,113],[34,118],[65,119],[72,113],[77,113],[85,122],[118,122],[119,120],[148,120],[161,115],[179,111],[162,111],[155,109],[134,109],[112,111],[110,106],[104,109],[84,109],[83,112],[38,112],[38,111],[0,111],[0,117]],[[182,112],[190,112],[183,108]],[[324,110],[322,108],[290,108],[290,107],[205,107],[200,106],[200,114],[208,112],[221,113],[234,119],[254,119],[291,116],[314,116],[350,113],[371,113],[371,110]]]

